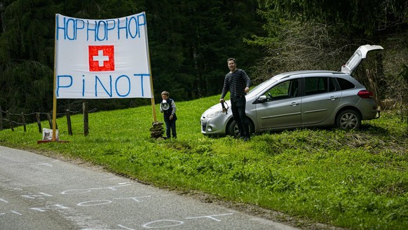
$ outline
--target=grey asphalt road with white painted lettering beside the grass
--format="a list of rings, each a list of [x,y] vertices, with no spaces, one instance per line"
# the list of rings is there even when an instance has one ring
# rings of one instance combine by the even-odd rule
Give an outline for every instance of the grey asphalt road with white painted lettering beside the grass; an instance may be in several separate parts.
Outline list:
[[[294,229],[102,170],[0,146],[0,229]]]

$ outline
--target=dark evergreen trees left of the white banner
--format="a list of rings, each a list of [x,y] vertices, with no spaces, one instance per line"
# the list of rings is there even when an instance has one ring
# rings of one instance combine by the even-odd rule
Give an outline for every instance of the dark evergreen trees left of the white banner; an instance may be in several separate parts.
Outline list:
[[[0,102],[11,111],[38,111],[52,101],[52,1],[4,1],[0,36]]]

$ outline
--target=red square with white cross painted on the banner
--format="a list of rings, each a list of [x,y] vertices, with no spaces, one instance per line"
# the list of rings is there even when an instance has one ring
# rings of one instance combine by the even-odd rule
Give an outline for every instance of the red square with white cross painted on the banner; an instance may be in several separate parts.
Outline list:
[[[88,46],[89,71],[114,71],[114,46]]]

